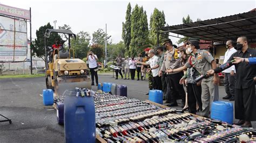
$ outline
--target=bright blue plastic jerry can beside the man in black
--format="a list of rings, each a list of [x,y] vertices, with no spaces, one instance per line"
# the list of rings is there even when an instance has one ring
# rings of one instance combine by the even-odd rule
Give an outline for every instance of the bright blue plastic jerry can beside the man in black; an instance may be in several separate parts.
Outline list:
[[[233,124],[233,104],[224,101],[215,101],[211,107],[211,118]]]

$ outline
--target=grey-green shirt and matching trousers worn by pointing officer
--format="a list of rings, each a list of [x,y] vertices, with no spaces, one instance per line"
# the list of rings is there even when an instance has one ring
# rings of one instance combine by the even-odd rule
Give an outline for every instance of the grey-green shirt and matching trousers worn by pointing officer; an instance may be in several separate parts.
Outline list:
[[[196,54],[190,57],[188,62],[185,64],[186,67],[194,67],[200,74],[206,74],[208,70],[212,69],[212,55],[205,50],[198,49]],[[202,108],[201,116],[209,116],[211,102],[219,100],[219,89],[218,85],[213,84],[213,77],[203,79],[201,82],[202,94]]]

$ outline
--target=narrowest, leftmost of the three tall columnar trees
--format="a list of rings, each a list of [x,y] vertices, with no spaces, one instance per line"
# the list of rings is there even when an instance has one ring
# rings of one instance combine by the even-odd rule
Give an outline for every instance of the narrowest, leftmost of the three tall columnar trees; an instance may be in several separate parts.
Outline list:
[[[122,39],[124,40],[124,45],[126,51],[129,51],[130,43],[131,43],[131,4],[127,5],[125,23],[123,22],[123,32]]]

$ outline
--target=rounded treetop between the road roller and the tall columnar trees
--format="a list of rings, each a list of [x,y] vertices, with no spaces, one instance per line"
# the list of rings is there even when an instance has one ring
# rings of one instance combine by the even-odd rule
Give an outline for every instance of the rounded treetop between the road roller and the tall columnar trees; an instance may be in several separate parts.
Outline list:
[[[105,37],[106,37],[105,32],[103,31],[102,28],[99,28],[96,32],[92,33],[92,42],[93,43],[97,42],[100,45],[104,45]],[[111,35],[110,36],[107,35],[107,42],[109,42],[110,37],[111,37]]]

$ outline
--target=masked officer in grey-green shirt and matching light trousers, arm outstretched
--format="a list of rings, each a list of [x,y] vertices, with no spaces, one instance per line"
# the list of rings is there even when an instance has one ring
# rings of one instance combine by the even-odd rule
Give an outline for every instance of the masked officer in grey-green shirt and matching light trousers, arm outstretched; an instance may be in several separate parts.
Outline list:
[[[212,55],[205,50],[201,50],[199,47],[199,39],[190,38],[188,40],[188,53],[193,52],[193,56],[187,61],[187,63],[178,69],[169,69],[167,72],[174,73],[177,71],[183,71],[186,68],[194,67],[200,74],[206,74],[208,70],[215,69],[217,67]],[[210,115],[210,106],[212,101],[218,101],[219,93],[218,86],[219,76],[214,74],[214,77],[203,79],[201,82],[201,100],[202,108],[201,116],[208,117]]]

